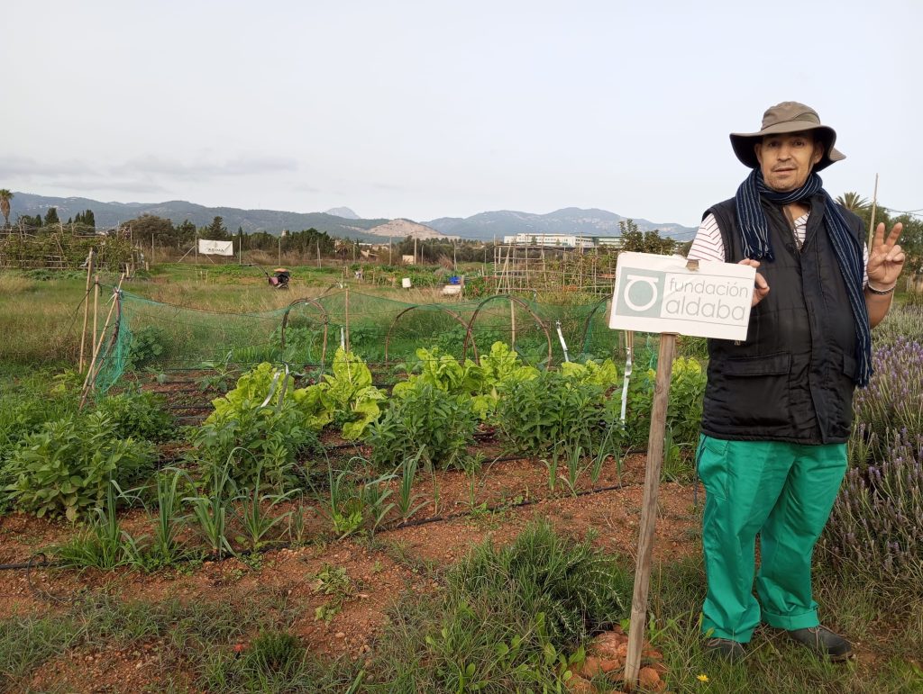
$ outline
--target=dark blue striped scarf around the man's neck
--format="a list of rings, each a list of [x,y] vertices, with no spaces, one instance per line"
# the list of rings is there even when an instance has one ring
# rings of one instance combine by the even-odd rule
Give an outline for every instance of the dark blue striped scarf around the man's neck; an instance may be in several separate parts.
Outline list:
[[[856,236],[846,226],[846,220],[836,206],[830,194],[823,189],[821,177],[811,173],[803,186],[790,193],[777,193],[766,187],[762,171],[757,168],[750,172],[747,179],[737,188],[737,226],[743,241],[745,258],[754,260],[773,260],[773,247],[769,242],[769,221],[763,212],[760,198],[764,197],[776,205],[788,205],[822,193],[824,199],[823,227],[833,243],[833,251],[840,265],[840,272],[849,295],[849,305],[853,310],[856,324],[856,358],[858,370],[856,383],[859,386],[869,384],[871,377],[871,331],[869,330],[869,312],[866,309],[865,294],[862,290],[862,248]]]

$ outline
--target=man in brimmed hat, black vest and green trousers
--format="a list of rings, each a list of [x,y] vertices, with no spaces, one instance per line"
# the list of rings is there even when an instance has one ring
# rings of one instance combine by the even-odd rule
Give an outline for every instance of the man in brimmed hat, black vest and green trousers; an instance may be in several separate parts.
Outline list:
[[[890,308],[904,253],[900,224],[887,238],[880,224],[864,251],[860,219],[823,190],[817,171],[845,159],[835,141],[794,101],[766,111],[759,132],[732,134],[752,171],[706,212],[689,250],[759,268],[747,339],[709,341],[698,453],[702,632],[730,660],[761,620],[822,656],[852,650],[818,620],[811,553],[845,474],[853,391],[871,375],[869,328]]]

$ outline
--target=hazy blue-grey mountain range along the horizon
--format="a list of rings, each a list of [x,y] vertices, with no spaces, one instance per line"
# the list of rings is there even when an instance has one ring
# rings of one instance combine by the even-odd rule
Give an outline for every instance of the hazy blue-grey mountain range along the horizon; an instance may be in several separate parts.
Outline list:
[[[56,207],[58,218],[65,221],[90,209],[101,229],[111,228],[141,215],[156,215],[179,224],[185,219],[197,227],[204,227],[215,217],[224,220],[232,233],[238,228],[246,233],[267,231],[278,234],[282,229],[318,229],[331,236],[348,237],[359,241],[380,241],[385,237],[415,236],[419,239],[457,237],[462,239],[491,240],[517,233],[575,234],[579,236],[618,236],[618,222],[627,219],[603,209],[565,207],[545,215],[529,212],[499,210],[481,212],[468,218],[443,217],[414,222],[410,219],[360,218],[349,207],[334,207],[326,212],[283,212],[268,209],[241,209],[238,207],[207,207],[170,200],[162,203],[100,202],[85,197],[49,197],[29,193],[14,193],[10,200],[10,221],[19,215],[44,216],[49,207]],[[635,218],[641,231],[657,229],[663,237],[688,241],[695,228],[674,223],[655,223]]]

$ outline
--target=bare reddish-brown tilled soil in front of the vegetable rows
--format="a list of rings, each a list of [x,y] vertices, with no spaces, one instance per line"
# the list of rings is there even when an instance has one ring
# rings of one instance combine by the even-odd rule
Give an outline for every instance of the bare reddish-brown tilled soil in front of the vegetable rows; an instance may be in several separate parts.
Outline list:
[[[148,603],[171,598],[240,602],[271,595],[294,609],[291,630],[310,651],[356,659],[375,649],[387,612],[396,600],[438,589],[435,574],[427,569],[447,568],[485,540],[509,543],[533,519],[546,518],[559,532],[575,537],[593,531],[596,546],[633,563],[644,465],[642,455],[629,456],[620,471],[608,464],[595,491],[584,473],[576,496],[563,480],[558,480],[551,492],[545,466],[535,460],[497,462],[474,479],[460,472],[438,472],[421,478],[414,486],[414,494],[422,495],[420,501],[428,501],[426,506],[405,526],[392,512],[372,543],[336,539],[323,509],[313,504],[300,510],[310,544],[273,548],[258,560],[205,561],[152,574],[129,568],[3,570],[0,618],[54,614],[88,591],[106,591],[126,602]],[[566,470],[558,473],[566,475]],[[434,490],[438,490],[437,495]],[[274,512],[292,509],[293,505],[276,507]],[[127,512],[121,522],[133,535],[150,532],[150,519],[143,512]],[[698,551],[693,541],[697,526],[693,488],[662,484],[654,561],[672,561]],[[76,532],[79,529],[70,523],[21,513],[2,517],[0,562],[27,562],[35,552],[64,542]],[[184,537],[195,541],[191,530],[186,530]],[[350,579],[348,594],[339,597],[342,605],[333,605],[333,598],[317,590],[318,572],[327,567],[344,569]],[[318,607],[325,605],[339,607],[339,611],[332,610],[329,620],[316,616]],[[157,648],[156,643],[150,643],[128,651],[71,649],[42,666],[21,687],[76,692],[158,690],[168,664]],[[176,664],[169,667],[176,676]]]

